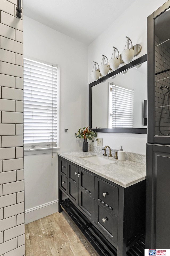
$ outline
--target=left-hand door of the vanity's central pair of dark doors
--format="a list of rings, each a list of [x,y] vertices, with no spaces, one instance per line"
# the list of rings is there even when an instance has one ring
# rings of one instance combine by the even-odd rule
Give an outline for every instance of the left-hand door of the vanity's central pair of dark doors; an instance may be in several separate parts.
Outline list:
[[[78,167],[68,163],[68,195],[79,204],[79,177]]]

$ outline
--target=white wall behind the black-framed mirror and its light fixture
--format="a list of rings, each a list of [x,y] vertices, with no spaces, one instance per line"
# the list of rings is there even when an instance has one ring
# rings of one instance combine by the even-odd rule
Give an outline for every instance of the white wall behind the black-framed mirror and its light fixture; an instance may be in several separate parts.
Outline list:
[[[147,53],[147,17],[165,2],[165,0],[137,0],[115,22],[108,24],[108,29],[88,47],[89,83],[92,82],[90,74],[93,61],[100,65],[102,54],[110,59],[112,46],[115,46],[121,53],[125,48],[126,36],[132,40],[133,45],[137,43],[142,45],[141,53],[135,58]],[[107,15],[105,22],[107,22]],[[146,154],[146,134],[98,133],[98,137],[103,138],[104,146],[109,145],[113,149],[118,149],[118,145],[123,145],[125,151]]]

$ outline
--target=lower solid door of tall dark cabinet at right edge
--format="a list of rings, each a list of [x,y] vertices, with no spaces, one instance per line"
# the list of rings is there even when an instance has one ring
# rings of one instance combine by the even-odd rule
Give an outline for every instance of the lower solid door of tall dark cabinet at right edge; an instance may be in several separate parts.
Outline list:
[[[170,146],[147,145],[146,248],[170,249]]]

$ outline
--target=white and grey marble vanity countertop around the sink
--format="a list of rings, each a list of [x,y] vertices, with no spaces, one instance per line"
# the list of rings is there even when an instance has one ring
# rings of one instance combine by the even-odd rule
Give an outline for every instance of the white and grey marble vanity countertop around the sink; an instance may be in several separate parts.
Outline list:
[[[74,151],[69,153],[58,153],[58,155],[122,187],[129,187],[146,179],[146,165],[142,163],[129,160],[121,162],[118,161],[118,159],[109,157],[109,160],[112,160],[113,163],[97,165],[82,159],[83,157],[97,155],[93,151]],[[100,156],[108,158],[108,156]]]

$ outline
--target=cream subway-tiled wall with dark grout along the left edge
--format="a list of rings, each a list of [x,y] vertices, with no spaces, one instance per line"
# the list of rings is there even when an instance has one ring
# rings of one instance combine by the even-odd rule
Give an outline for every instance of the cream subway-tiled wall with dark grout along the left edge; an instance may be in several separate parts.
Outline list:
[[[0,255],[25,255],[23,21],[0,0]]]

